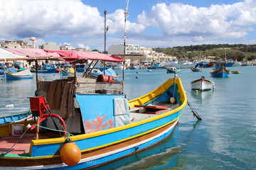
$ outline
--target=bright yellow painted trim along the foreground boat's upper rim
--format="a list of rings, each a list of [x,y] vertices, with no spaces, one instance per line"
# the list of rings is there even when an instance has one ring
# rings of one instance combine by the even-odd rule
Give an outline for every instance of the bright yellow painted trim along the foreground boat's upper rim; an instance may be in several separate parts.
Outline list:
[[[156,115],[152,118],[148,118],[146,120],[139,121],[137,123],[131,123],[129,125],[124,125],[124,126],[117,127],[117,128],[111,128],[111,129],[108,129],[108,130],[102,130],[102,131],[99,131],[99,132],[92,132],[92,133],[88,133],[88,134],[71,136],[70,139],[72,141],[76,141],[76,140],[84,140],[84,139],[87,139],[87,138],[90,138],[90,137],[97,137],[97,136],[100,136],[100,135],[106,135],[108,133],[117,132],[117,131],[120,131],[120,130],[125,130],[125,129],[133,128],[133,127],[145,124],[145,123],[149,123],[151,121],[158,120],[158,119],[164,118],[168,115],[174,114],[178,111],[181,111],[181,109],[184,108],[186,106],[186,103],[187,103],[187,98],[186,98],[186,94],[185,94],[185,91],[183,89],[183,86],[181,84],[181,79],[169,79],[164,84],[161,85],[164,88],[162,88],[160,86],[159,88],[152,91],[151,93],[146,94],[146,95],[144,95],[140,98],[135,98],[134,100],[129,101],[129,103],[134,102],[134,101],[141,101],[141,102],[143,101],[144,103],[146,103],[147,101],[144,100],[144,99],[141,99],[141,98],[146,98],[146,96],[149,96],[149,95],[151,95],[153,98],[155,96],[159,96],[159,94],[161,94],[164,91],[164,89],[165,90],[168,89],[169,86],[171,86],[171,84],[173,84],[173,82],[175,82],[178,85],[178,93],[181,95],[180,100],[182,101],[182,104],[178,108],[176,108],[172,111],[163,113],[161,115]],[[132,103],[132,106],[134,106],[134,104],[136,104],[136,103],[137,102]],[[55,144],[55,143],[61,143],[61,142],[65,142],[65,137],[45,139],[45,140],[32,140],[31,145],[49,145],[49,144]]]

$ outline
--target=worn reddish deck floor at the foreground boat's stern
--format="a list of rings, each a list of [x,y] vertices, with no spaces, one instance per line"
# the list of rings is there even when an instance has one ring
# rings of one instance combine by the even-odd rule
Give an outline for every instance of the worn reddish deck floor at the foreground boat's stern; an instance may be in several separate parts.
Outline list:
[[[14,144],[18,141],[21,135],[10,135],[5,137],[0,137],[0,154],[7,152]],[[29,151],[31,145],[31,140],[36,137],[36,133],[26,132],[21,140],[16,143],[16,145],[11,149],[9,154],[26,154]],[[46,139],[49,137],[60,137],[60,135],[53,134],[50,132],[42,132],[39,134],[39,139]]]

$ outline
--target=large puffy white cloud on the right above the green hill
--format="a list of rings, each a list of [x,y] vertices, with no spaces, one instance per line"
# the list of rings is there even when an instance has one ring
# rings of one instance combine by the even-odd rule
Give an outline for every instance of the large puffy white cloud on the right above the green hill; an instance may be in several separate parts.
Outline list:
[[[196,8],[183,4],[156,4],[149,13],[143,11],[138,22],[159,28],[167,37],[244,38],[256,24],[256,3],[245,0],[233,5]]]

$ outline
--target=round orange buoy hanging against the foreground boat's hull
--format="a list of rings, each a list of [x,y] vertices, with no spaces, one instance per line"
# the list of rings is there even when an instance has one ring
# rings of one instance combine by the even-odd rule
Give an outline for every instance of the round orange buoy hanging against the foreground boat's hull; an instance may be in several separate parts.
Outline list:
[[[60,158],[65,164],[73,166],[80,161],[81,151],[75,143],[66,143],[60,150]]]

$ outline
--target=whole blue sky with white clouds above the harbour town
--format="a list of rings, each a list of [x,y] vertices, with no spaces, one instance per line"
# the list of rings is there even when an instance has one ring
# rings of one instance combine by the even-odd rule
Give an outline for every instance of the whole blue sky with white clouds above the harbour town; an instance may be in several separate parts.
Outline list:
[[[90,50],[124,42],[127,0],[0,0],[0,40]],[[256,44],[255,0],[129,0],[127,44]]]

